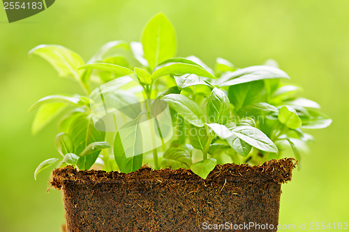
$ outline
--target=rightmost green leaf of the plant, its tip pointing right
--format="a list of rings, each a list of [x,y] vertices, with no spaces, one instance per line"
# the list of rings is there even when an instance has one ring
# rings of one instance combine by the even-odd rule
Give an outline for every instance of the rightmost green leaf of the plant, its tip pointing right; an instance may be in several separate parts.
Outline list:
[[[308,112],[309,116],[300,116],[302,119],[302,128],[321,129],[331,125],[332,119],[327,115],[311,109],[308,109]]]

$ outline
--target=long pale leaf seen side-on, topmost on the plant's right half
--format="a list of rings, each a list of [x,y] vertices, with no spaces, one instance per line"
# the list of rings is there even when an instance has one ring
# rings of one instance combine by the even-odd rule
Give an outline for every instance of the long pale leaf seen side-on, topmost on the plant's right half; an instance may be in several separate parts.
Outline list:
[[[254,82],[260,79],[276,78],[290,79],[290,77],[279,68],[257,65],[223,74],[220,78],[219,86],[233,86],[235,84]]]

